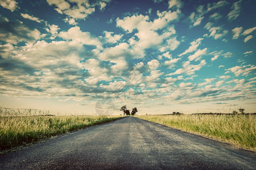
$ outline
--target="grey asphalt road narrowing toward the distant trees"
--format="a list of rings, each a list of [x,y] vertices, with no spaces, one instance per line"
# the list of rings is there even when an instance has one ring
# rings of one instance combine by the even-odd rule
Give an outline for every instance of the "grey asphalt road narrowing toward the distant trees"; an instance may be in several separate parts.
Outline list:
[[[256,169],[256,154],[125,117],[1,155],[0,169]]]

